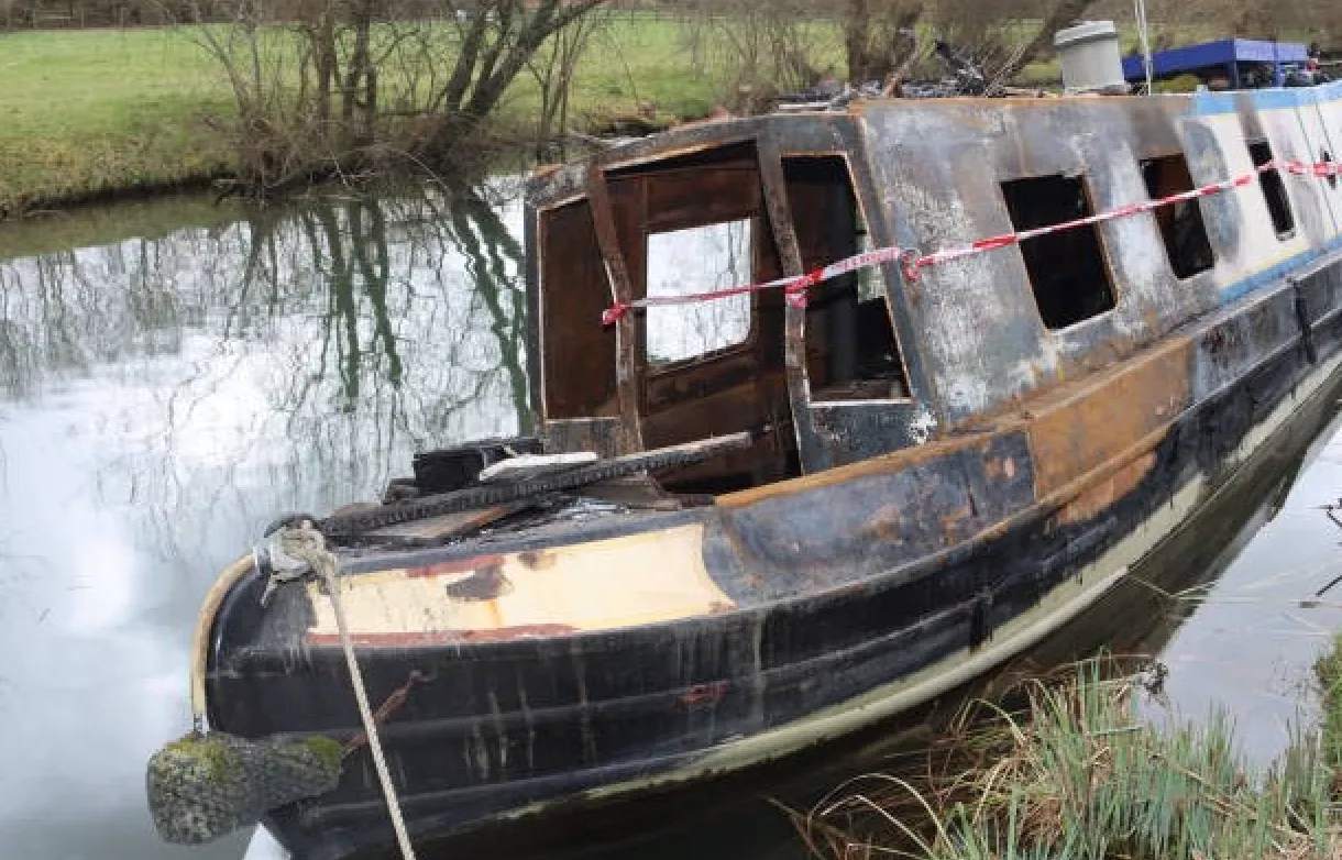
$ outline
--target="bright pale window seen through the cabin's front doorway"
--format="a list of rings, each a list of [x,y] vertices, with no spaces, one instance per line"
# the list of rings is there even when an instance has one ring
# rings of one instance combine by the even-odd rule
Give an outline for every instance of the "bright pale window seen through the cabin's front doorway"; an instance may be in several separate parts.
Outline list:
[[[648,298],[674,298],[749,284],[752,224],[742,219],[647,237]],[[750,294],[647,310],[648,362],[670,364],[715,353],[750,337]]]

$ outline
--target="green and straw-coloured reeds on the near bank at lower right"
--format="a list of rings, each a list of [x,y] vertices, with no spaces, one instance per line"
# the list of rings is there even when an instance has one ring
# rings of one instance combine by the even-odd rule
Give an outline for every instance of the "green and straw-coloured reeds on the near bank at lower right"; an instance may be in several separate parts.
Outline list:
[[[1272,766],[1248,765],[1232,723],[1158,726],[1139,712],[1159,667],[1113,659],[980,703],[919,773],[871,774],[792,813],[817,857],[868,860],[1342,860],[1342,645],[1315,667],[1321,724]]]

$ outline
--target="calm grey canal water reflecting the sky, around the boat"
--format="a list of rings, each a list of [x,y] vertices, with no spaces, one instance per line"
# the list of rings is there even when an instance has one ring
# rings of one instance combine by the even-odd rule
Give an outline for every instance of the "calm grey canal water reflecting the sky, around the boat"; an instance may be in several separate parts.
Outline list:
[[[153,833],[144,763],[189,727],[197,604],[275,513],[376,498],[417,449],[527,429],[515,191],[181,197],[0,229],[3,856],[282,856],[251,833]],[[1173,704],[1231,711],[1260,761],[1308,715],[1342,628],[1342,586],[1302,608],[1342,574],[1321,510],[1342,495],[1335,425],[1280,483],[1205,589],[1131,620],[1164,625]],[[662,844],[798,852],[762,806]]]

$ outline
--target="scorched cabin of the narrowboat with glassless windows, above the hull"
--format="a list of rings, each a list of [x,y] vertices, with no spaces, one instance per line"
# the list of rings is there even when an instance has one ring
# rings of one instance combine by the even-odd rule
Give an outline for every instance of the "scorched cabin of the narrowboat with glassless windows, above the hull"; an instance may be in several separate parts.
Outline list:
[[[527,193],[531,384],[550,449],[747,431],[682,488],[757,486],[1019,413],[1337,247],[1342,192],[1264,181],[809,291],[613,303],[931,252],[1251,174],[1331,162],[1342,85],[1041,99],[886,99],[694,125],[541,172]]]

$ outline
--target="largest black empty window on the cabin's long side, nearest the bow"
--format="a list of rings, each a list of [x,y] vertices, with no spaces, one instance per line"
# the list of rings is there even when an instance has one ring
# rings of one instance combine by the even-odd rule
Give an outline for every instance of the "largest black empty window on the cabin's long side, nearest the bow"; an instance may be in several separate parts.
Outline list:
[[[1095,213],[1082,177],[1040,176],[1001,188],[1017,232]],[[1114,284],[1095,225],[1035,236],[1019,247],[1048,329],[1066,329],[1114,309]]]

